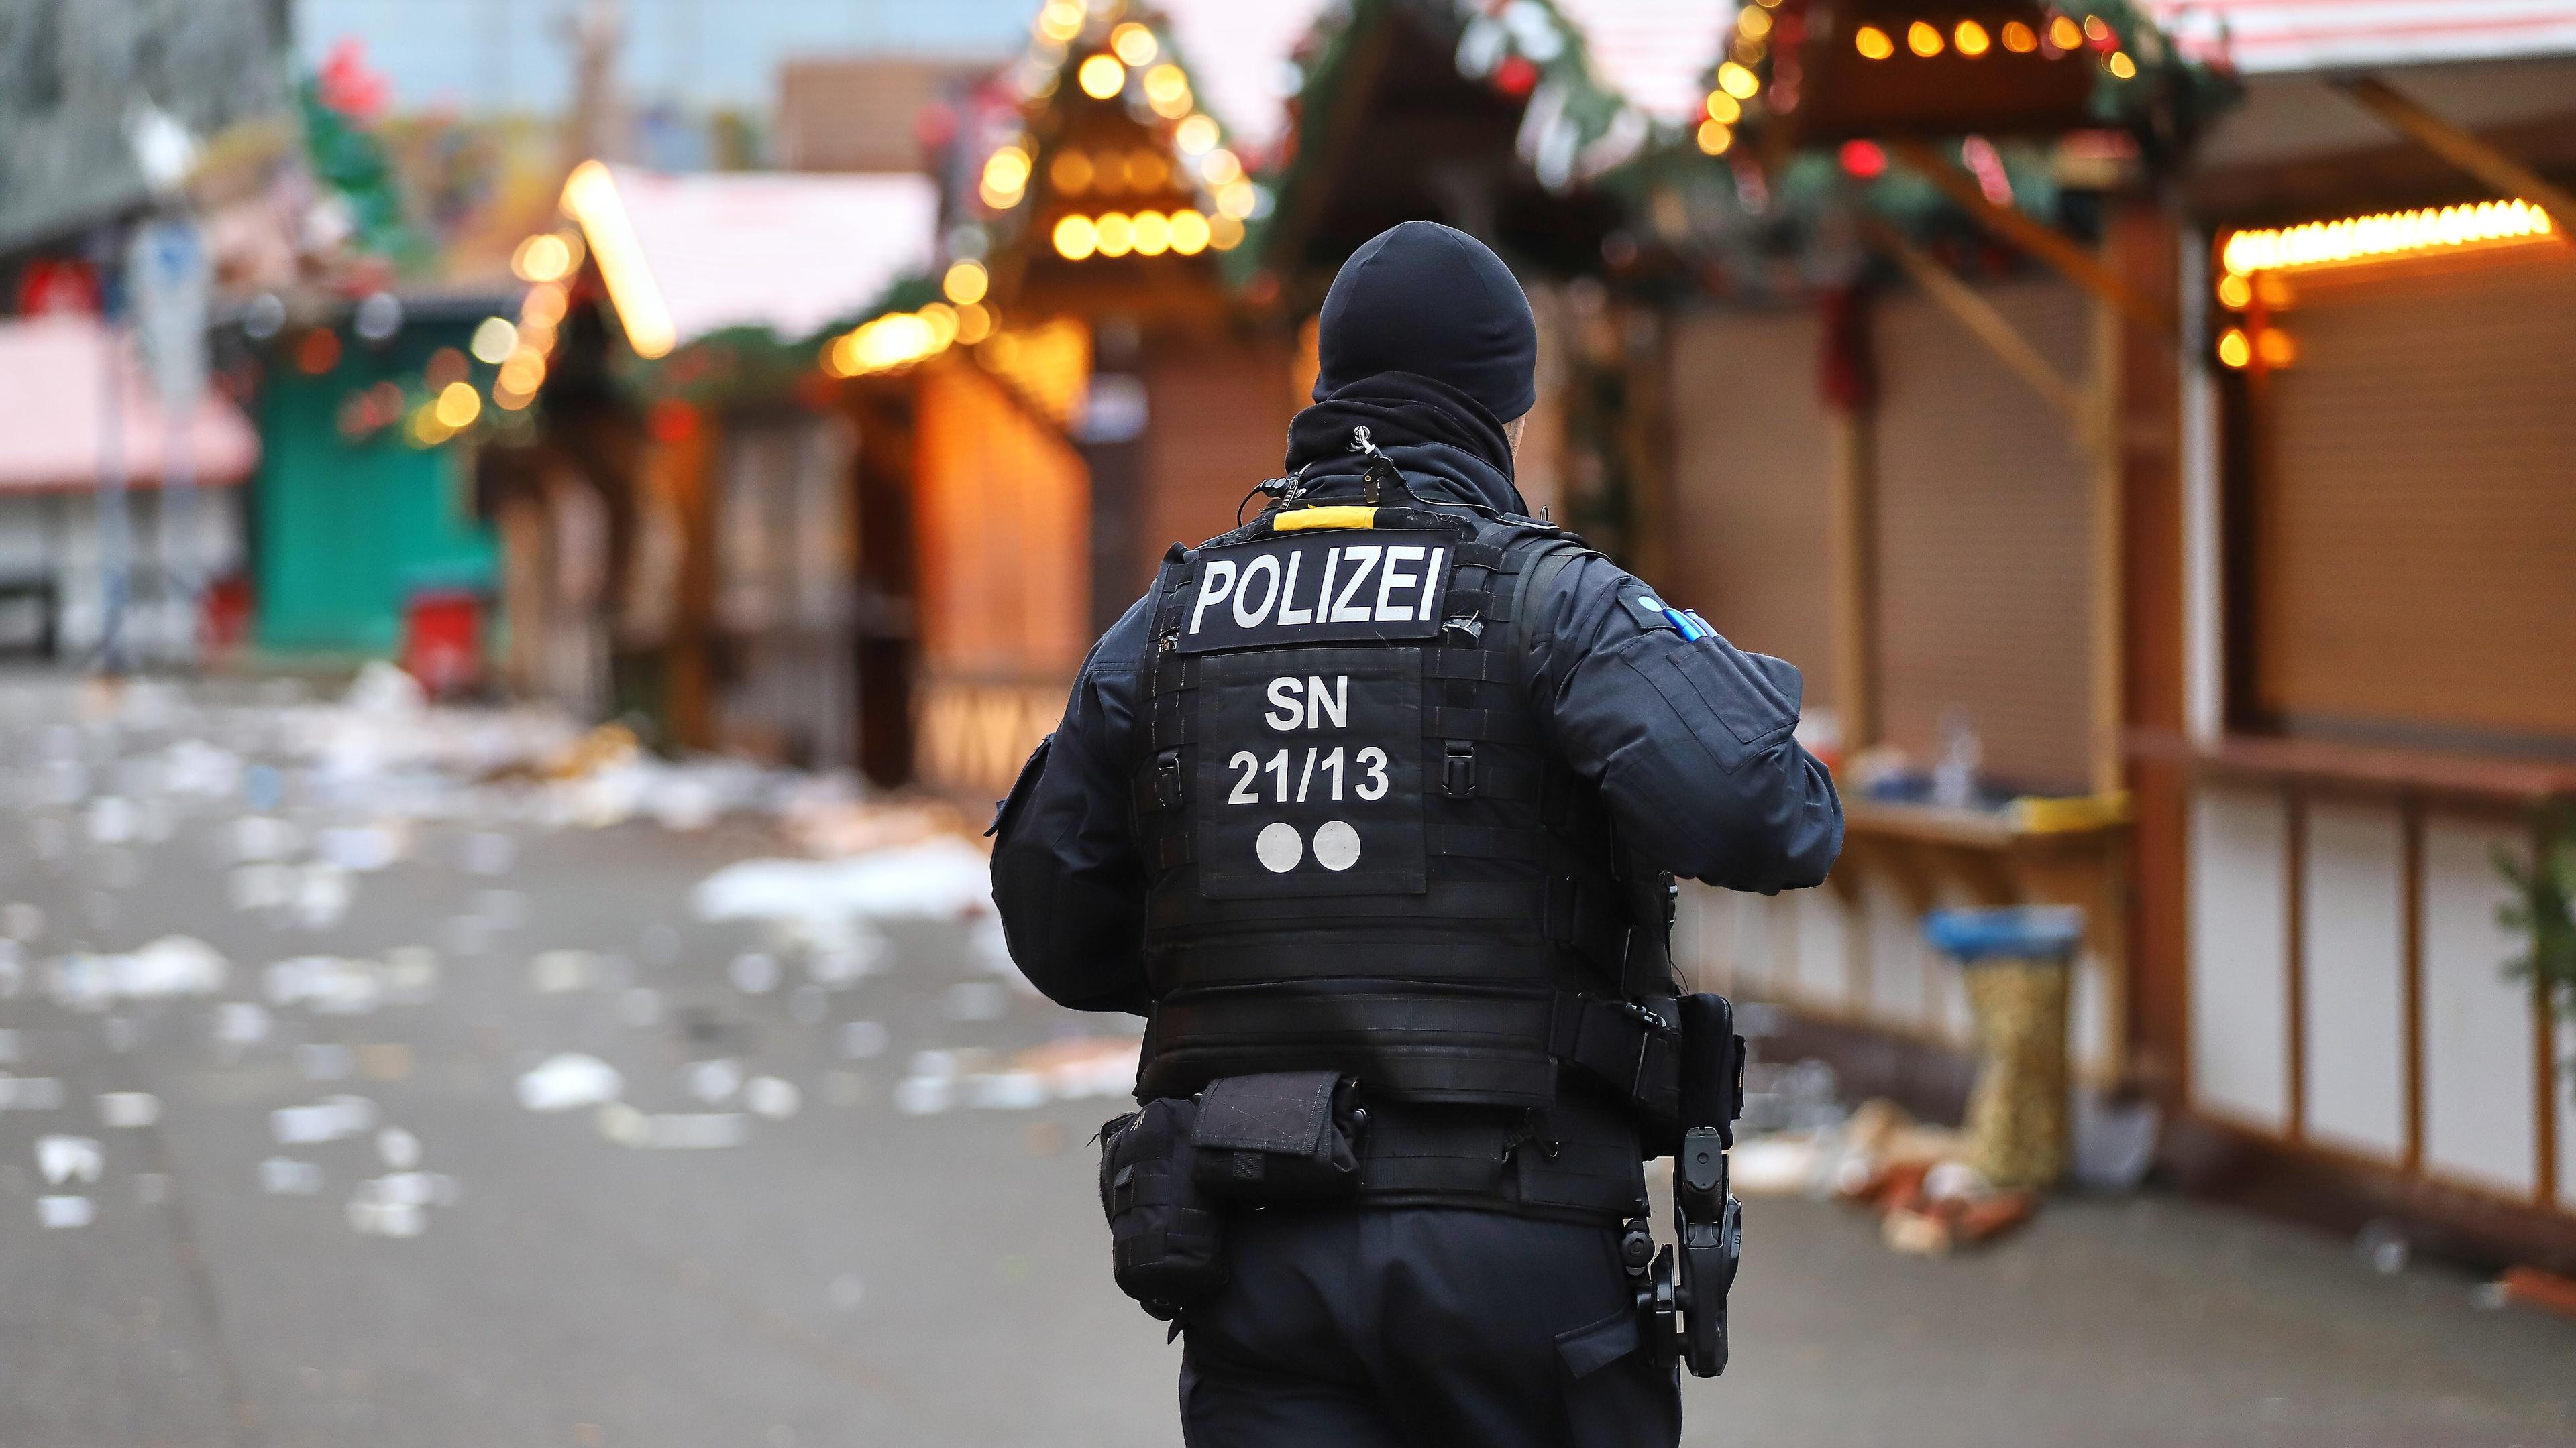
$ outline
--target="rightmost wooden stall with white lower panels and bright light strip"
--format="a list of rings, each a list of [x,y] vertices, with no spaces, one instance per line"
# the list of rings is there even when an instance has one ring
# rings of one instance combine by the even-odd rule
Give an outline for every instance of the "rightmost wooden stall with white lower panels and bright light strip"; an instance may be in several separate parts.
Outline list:
[[[2169,822],[2141,1049],[2197,1162],[2568,1265],[2576,1025],[2501,915],[2576,796],[2576,10],[2543,21],[2241,57],[2184,191],[2179,536],[2133,564],[2182,647],[2130,752]]]

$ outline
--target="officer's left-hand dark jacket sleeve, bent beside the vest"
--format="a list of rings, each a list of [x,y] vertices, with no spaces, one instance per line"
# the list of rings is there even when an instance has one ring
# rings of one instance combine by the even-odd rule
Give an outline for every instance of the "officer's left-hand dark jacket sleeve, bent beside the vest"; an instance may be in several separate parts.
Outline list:
[[[1030,755],[994,819],[992,899],[1010,958],[1074,1010],[1151,1002],[1144,979],[1144,858],[1128,830],[1128,734],[1149,600],[1082,662],[1064,721]]]

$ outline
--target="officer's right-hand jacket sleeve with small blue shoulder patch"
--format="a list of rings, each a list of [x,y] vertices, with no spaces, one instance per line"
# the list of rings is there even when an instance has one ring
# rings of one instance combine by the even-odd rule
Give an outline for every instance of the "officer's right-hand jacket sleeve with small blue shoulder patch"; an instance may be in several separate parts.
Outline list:
[[[1533,706],[1597,781],[1625,848],[1726,889],[1821,884],[1842,853],[1834,776],[1798,727],[1798,670],[1721,636],[1685,639],[1659,598],[1582,554],[1525,611]]]

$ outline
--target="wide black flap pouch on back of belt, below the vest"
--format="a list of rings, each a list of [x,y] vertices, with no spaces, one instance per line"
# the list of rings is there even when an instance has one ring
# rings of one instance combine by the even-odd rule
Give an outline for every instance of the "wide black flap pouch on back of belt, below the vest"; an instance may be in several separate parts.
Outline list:
[[[1198,1185],[1247,1203],[1334,1201],[1360,1190],[1368,1110],[1334,1072],[1224,1077],[1198,1092]]]

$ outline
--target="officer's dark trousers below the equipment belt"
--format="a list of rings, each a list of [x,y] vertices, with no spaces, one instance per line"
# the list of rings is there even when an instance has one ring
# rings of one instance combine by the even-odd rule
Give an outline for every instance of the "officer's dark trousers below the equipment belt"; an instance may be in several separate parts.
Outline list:
[[[1607,1226],[1453,1208],[1244,1211],[1182,1322],[1190,1448],[1672,1448]]]

